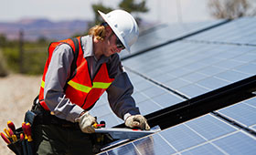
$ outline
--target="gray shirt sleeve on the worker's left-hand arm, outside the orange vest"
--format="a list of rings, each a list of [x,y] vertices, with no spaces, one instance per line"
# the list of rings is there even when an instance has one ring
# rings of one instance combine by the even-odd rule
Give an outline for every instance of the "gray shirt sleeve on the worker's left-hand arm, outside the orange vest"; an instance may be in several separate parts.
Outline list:
[[[73,58],[72,49],[68,45],[63,44],[56,47],[48,66],[44,89],[44,98],[48,109],[53,111],[58,118],[71,122],[74,122],[83,111],[76,104],[72,104],[69,98],[65,98],[64,93]]]

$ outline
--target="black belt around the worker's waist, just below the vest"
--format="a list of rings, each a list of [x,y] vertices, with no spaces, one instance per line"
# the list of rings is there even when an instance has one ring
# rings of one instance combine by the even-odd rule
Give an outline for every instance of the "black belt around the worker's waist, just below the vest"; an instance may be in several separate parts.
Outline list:
[[[63,128],[80,129],[79,123],[73,123],[65,119],[59,119],[58,117],[50,114],[50,111],[44,109],[39,103],[34,103],[34,105],[35,104],[36,106],[33,106],[31,109],[31,111],[37,115],[33,122],[34,126],[51,124]]]

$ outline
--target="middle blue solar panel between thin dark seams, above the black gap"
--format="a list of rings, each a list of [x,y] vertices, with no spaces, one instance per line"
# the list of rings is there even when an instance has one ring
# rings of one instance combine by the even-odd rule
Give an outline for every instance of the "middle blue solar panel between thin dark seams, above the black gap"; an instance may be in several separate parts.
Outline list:
[[[178,41],[125,59],[123,65],[194,98],[255,75],[254,51],[255,47]]]

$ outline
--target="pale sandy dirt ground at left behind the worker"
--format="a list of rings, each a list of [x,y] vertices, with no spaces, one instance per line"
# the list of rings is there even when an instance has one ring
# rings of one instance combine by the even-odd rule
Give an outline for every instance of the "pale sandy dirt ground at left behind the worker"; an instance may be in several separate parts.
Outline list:
[[[4,132],[7,121],[12,120],[16,128],[21,127],[24,115],[37,96],[41,76],[9,75],[0,78],[0,130]],[[4,140],[0,140],[0,154],[12,155]]]

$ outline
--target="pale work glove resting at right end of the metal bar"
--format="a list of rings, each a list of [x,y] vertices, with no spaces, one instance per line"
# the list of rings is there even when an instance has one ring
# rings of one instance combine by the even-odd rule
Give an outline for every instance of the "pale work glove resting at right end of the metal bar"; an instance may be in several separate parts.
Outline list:
[[[147,124],[146,119],[142,115],[132,115],[129,116],[127,119],[125,119],[125,126],[130,127],[130,128],[140,128],[140,129],[145,129],[149,130],[150,127]]]

